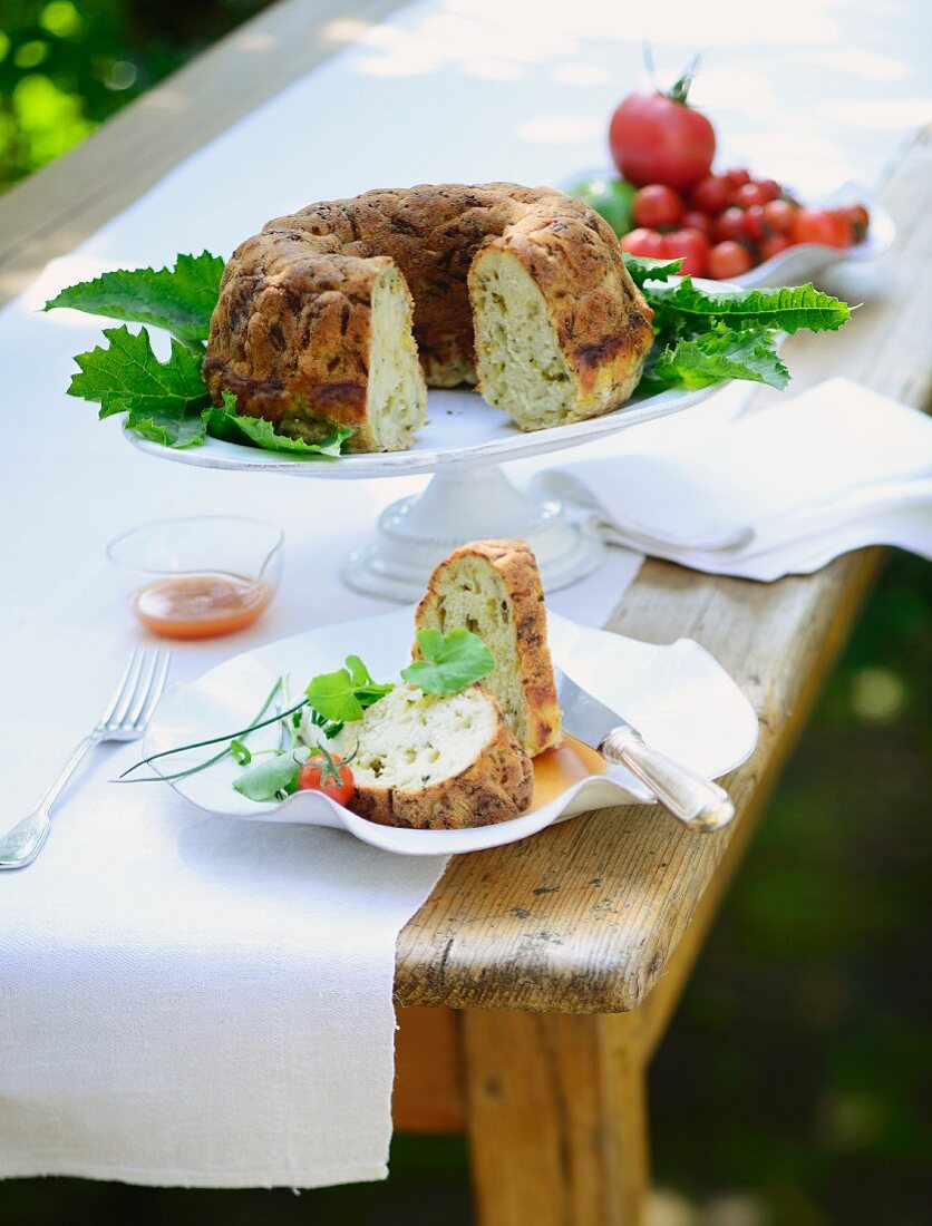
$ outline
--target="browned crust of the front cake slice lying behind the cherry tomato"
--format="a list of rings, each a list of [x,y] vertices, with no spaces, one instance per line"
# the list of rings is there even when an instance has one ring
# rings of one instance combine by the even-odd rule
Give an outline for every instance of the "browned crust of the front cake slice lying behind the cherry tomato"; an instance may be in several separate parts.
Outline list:
[[[417,792],[357,782],[352,809],[384,826],[464,830],[516,818],[530,807],[532,796],[533,763],[499,712],[493,738],[454,779]]]

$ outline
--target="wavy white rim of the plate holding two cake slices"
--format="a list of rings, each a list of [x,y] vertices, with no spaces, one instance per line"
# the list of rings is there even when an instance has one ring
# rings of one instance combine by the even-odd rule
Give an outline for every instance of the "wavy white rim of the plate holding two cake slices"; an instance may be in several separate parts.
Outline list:
[[[753,753],[758,738],[758,720],[754,709],[725,669],[699,644],[689,639],[681,639],[665,646],[643,644],[603,630],[580,626],[553,613],[549,614],[549,624],[554,660],[570,676],[575,672],[576,679],[581,682],[585,682],[585,677],[580,669],[585,671],[586,660],[591,663],[594,658],[597,658],[600,671],[603,672],[605,662],[608,658],[606,653],[611,656],[612,652],[614,652],[616,668],[624,667],[635,673],[638,669],[646,669],[649,677],[651,673],[655,676],[662,673],[663,668],[670,669],[673,664],[679,667],[688,664],[693,669],[693,683],[698,678],[699,683],[708,687],[709,691],[715,695],[715,700],[720,704],[720,718],[725,718],[730,736],[728,744],[716,744],[714,754],[706,747],[704,760],[690,763],[690,765],[717,777],[741,765]],[[379,644],[386,651],[394,652],[399,645],[410,644],[412,625],[413,607],[403,607],[391,613],[336,623],[314,631],[292,635],[288,639],[276,640],[254,651],[234,656],[210,669],[191,684],[175,684],[169,688],[150,725],[145,752],[150,754],[170,748],[177,745],[179,739],[186,741],[189,737],[197,737],[202,731],[206,731],[199,729],[196,726],[184,725],[185,702],[188,701],[190,707],[191,698],[196,701],[199,694],[208,691],[211,688],[220,688],[220,691],[226,694],[231,682],[237,684],[238,672],[250,672],[255,677],[255,690],[250,691],[248,701],[251,714],[254,702],[264,696],[260,694],[262,685],[266,685],[267,691],[276,676],[275,671],[269,667],[271,657],[276,655],[289,657],[292,651],[297,653],[302,646],[307,650],[311,638],[335,640],[332,647],[325,649],[330,661],[334,657],[342,658],[341,651],[343,653],[358,651],[363,657],[367,657],[370,650],[378,650],[376,645]],[[369,647],[367,647],[367,639]],[[336,646],[336,641],[341,641],[341,646]],[[629,657],[628,663],[619,666],[618,661],[624,655]],[[603,701],[606,700],[605,693],[600,696]],[[643,716],[643,712],[639,715],[636,710],[632,709],[630,702],[628,702],[628,710],[634,718]],[[174,723],[172,723],[173,717]],[[661,702],[660,714],[655,710],[652,718],[659,718],[660,723],[651,739],[659,748],[667,748],[668,752],[673,752],[676,748],[679,756],[683,756],[682,744],[677,743],[674,747],[663,743],[665,736],[670,737],[671,732],[674,732],[674,739],[682,739],[684,734],[682,717],[676,716],[674,706],[665,710],[665,702]],[[681,722],[674,728],[677,718]],[[666,733],[663,731],[665,721]],[[166,723],[168,727],[163,727]],[[183,728],[185,731],[181,731]],[[256,744],[261,744],[261,741]],[[199,776],[191,776],[190,780],[170,781],[170,786],[189,803],[206,813],[251,821],[332,826],[343,829],[363,842],[396,855],[449,856],[482,851],[526,839],[554,821],[591,809],[630,804],[632,802],[654,803],[650,794],[628,771],[623,767],[612,767],[609,774],[584,779],[548,804],[510,821],[468,830],[400,830],[367,821],[318,792],[299,792],[285,802],[253,804],[238,797],[229,787],[229,777],[233,772],[232,764],[227,764],[204,771]],[[191,780],[195,779],[199,782],[193,787]],[[211,792],[210,788],[215,787],[215,781],[216,792]],[[206,796],[205,785],[208,790]]]

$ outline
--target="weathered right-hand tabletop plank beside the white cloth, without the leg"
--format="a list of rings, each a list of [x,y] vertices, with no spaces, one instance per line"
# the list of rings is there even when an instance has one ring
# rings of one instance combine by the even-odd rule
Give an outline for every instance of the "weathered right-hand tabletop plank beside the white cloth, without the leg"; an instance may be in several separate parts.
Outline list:
[[[831,371],[928,403],[931,183],[927,132],[884,190],[899,228],[890,295],[863,306],[836,335],[793,337],[786,356],[797,389]],[[876,552],[865,550],[817,575],[773,585],[645,565],[611,628],[655,642],[695,639],[759,714],[760,744],[728,781],[738,819],[719,835],[694,836],[657,810],[632,807],[457,858],[400,935],[399,998],[541,1011],[640,1005],[688,932],[730,843],[742,837],[757,792],[785,758],[877,564]]]

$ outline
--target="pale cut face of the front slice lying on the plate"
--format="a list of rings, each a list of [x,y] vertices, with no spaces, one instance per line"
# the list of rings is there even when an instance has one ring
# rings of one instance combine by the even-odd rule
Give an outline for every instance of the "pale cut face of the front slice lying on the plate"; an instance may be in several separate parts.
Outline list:
[[[424,694],[401,684],[362,721],[347,725],[331,748],[347,756],[356,750],[358,786],[419,792],[472,765],[495,734],[497,714],[475,687],[460,694]]]

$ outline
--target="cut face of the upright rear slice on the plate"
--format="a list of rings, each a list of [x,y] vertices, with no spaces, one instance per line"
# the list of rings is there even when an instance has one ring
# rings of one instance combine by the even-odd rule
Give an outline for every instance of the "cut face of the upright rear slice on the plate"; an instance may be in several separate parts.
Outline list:
[[[495,658],[482,685],[498,699],[520,745],[527,744],[527,705],[518,673],[518,626],[508,588],[494,566],[477,558],[461,558],[451,574],[437,584],[434,600],[421,624],[446,633],[465,626],[477,634]]]

